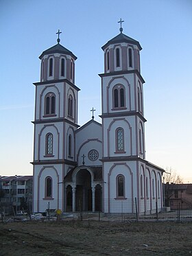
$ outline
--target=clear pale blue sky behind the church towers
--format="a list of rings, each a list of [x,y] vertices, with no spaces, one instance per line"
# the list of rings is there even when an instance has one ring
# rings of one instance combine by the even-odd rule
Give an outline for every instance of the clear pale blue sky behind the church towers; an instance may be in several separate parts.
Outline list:
[[[138,40],[144,84],[146,159],[192,183],[191,0],[0,0],[0,175],[32,175],[34,82],[38,56],[60,44],[71,50],[82,126],[101,122],[101,47],[123,33]]]

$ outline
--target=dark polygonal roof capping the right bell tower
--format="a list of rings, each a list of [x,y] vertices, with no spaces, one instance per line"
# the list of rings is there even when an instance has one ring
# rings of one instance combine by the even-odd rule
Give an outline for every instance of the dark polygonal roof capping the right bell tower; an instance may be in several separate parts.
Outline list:
[[[114,38],[110,39],[108,41],[108,43],[106,43],[103,47],[101,47],[101,49],[104,50],[104,49],[106,49],[106,47],[108,47],[108,45],[113,45],[115,43],[131,43],[132,45],[137,45],[137,47],[139,48],[140,51],[142,49],[142,47],[138,41],[134,40],[133,38],[131,38],[129,36],[126,36],[122,32],[119,33]]]

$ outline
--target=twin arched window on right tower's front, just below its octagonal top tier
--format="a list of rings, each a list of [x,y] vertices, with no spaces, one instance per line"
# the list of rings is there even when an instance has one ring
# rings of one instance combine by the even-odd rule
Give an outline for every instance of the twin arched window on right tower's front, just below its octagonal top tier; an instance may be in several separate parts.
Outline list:
[[[122,84],[117,84],[113,88],[113,108],[125,107],[125,88]]]

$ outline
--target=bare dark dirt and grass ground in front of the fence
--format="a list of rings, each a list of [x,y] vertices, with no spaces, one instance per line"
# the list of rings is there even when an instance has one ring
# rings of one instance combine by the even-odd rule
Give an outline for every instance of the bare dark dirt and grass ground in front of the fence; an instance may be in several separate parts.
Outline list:
[[[0,255],[192,255],[192,222],[1,223]]]

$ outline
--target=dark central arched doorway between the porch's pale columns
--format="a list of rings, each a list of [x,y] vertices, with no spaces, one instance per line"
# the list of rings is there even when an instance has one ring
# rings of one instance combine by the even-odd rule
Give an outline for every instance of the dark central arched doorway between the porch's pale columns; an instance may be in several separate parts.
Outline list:
[[[91,174],[81,169],[76,174],[75,210],[92,211]]]

